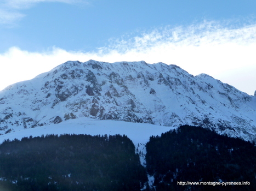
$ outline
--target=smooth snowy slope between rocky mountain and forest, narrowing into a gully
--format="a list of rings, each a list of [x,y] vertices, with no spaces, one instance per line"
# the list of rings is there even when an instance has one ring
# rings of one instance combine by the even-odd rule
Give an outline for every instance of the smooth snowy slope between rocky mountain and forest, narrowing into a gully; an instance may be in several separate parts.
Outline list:
[[[88,135],[127,135],[135,145],[136,152],[139,153],[141,164],[145,165],[145,145],[150,136],[161,136],[169,131],[170,127],[156,126],[145,123],[130,123],[117,120],[94,120],[92,118],[81,117],[64,121],[59,124],[42,126],[37,128],[17,130],[12,133],[0,135],[0,144],[9,139],[21,140],[24,137],[35,137],[41,135],[61,135],[61,134],[88,134]]]

